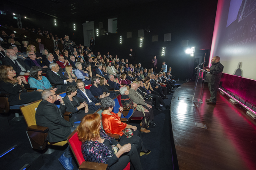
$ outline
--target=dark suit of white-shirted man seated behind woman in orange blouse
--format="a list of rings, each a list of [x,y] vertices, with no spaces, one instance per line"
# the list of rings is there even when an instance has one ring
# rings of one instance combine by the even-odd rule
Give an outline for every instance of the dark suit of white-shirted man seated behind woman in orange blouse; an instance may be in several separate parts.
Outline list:
[[[77,89],[77,97],[80,97],[86,100],[89,110],[97,111],[100,108],[100,105],[95,105],[95,104],[99,103],[99,101],[91,94],[90,90],[85,89],[85,93],[89,97],[89,99],[92,101],[91,103],[89,102],[85,94],[83,94],[83,92],[80,89]]]

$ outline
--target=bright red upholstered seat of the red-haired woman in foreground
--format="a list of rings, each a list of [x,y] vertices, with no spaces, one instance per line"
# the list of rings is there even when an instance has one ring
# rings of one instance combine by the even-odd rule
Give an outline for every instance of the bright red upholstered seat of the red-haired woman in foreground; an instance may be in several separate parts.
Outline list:
[[[69,136],[68,142],[77,160],[77,163],[80,166],[83,162],[85,162],[85,159],[83,158],[82,149],[81,149],[82,142],[79,140],[77,136],[77,132],[75,132],[74,135],[72,135],[71,137]],[[129,169],[130,169],[130,162],[127,164],[124,170],[129,170]]]

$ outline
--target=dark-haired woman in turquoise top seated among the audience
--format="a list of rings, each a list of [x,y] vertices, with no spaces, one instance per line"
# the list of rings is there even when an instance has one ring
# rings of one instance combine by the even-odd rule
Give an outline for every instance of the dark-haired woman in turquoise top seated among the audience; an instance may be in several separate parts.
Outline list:
[[[36,88],[37,92],[42,92],[44,89],[53,89],[56,93],[63,92],[61,89],[53,88],[50,81],[45,76],[42,76],[42,67],[33,66],[30,70],[28,83],[31,88]]]

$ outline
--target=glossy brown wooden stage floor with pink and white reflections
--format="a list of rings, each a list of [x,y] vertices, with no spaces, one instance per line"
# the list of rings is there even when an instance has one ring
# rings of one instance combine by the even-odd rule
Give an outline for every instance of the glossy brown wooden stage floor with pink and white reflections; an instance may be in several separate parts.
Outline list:
[[[195,82],[179,86],[171,102],[171,124],[180,170],[256,170],[256,122],[217,93],[217,104],[191,106]],[[179,97],[179,100],[178,100]],[[207,129],[195,127],[195,122]]]

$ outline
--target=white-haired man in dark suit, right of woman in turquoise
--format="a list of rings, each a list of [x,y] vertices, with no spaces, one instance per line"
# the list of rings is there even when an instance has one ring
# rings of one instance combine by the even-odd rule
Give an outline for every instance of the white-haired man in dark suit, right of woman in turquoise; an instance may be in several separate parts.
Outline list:
[[[62,72],[60,72],[60,67],[57,63],[53,62],[50,64],[50,69],[46,73],[47,79],[52,84],[56,84],[56,88],[66,90],[67,86],[75,85],[76,82],[73,78],[66,78]]]

